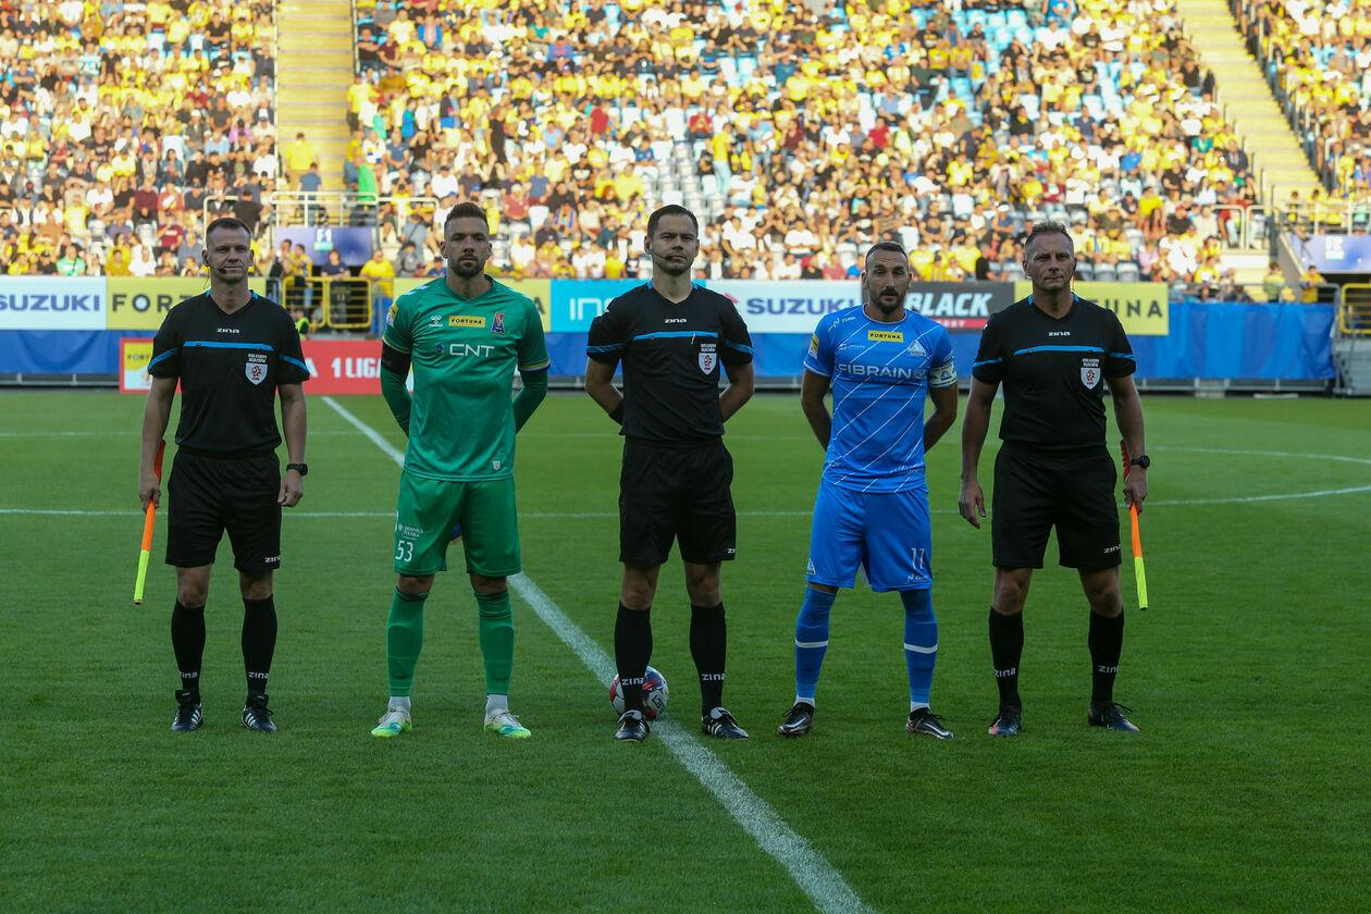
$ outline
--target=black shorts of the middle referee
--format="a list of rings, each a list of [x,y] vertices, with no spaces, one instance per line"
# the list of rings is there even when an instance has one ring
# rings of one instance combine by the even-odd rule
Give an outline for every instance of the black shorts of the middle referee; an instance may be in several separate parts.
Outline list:
[[[733,559],[733,458],[723,440],[695,447],[662,447],[624,440],[618,477],[618,560],[661,565],[680,540],[681,560],[698,565]]]

